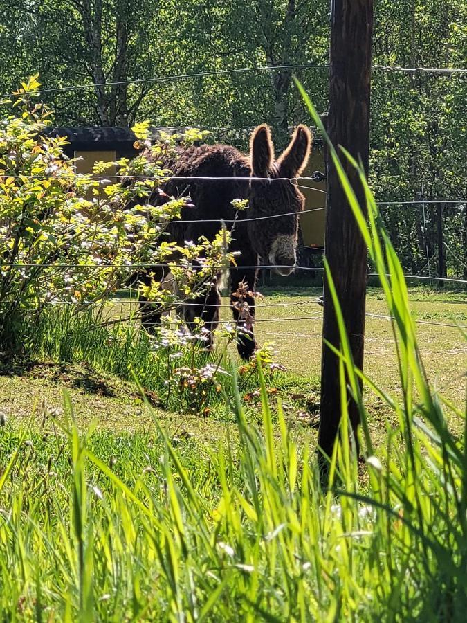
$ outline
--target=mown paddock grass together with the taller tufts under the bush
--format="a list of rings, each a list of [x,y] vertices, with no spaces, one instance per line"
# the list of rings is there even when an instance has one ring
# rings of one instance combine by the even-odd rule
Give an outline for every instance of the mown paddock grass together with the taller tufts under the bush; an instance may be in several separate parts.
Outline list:
[[[314,302],[320,290],[284,285],[281,291],[266,288],[264,294],[266,298],[261,302],[262,307],[257,309],[257,338],[260,344],[273,341],[273,350],[276,351],[274,359],[287,370],[268,380],[268,387],[277,389],[277,395],[271,395],[271,399],[279,396],[289,422],[306,431],[309,424],[317,422],[320,399],[322,308]],[[410,287],[408,298],[414,318],[450,324],[453,323],[450,315],[455,313],[458,323],[467,325],[466,291]],[[226,299],[224,303],[227,303]],[[389,315],[381,288],[368,289],[367,311],[380,316]],[[263,322],[291,316],[317,317],[291,322]],[[225,307],[223,317],[230,317]],[[8,368],[0,376],[0,409],[6,411],[12,420],[29,417],[33,405],[40,405],[43,399],[51,408],[59,408],[62,388],[66,388],[76,406],[80,425],[88,426],[95,421],[100,428],[114,431],[145,428],[149,420],[131,381],[131,364],[133,370],[140,371],[138,377],[147,388],[147,397],[152,401],[158,417],[174,430],[180,427],[182,431],[210,443],[225,437],[223,427],[218,424],[226,419],[232,421],[232,416],[217,392],[212,392],[208,417],[187,413],[186,410],[180,413],[176,395],[172,395],[167,407],[163,384],[167,379],[166,361],[161,363],[155,360],[145,340],[138,342],[137,332],[122,334],[124,340],[119,342],[116,339],[117,329],[116,335],[109,338],[107,330],[95,334],[87,328],[67,328],[64,323],[57,328],[55,325],[59,324],[59,320],[51,318],[52,326],[48,327],[48,331],[44,329],[42,342],[35,344],[35,365],[18,365],[13,370]],[[86,318],[83,319],[84,325],[85,321]],[[460,407],[465,395],[467,355],[467,345],[461,332],[457,328],[419,325],[417,335],[428,378],[443,395]],[[230,354],[233,361],[237,361],[234,347],[230,347]],[[199,363],[201,365],[201,359]],[[227,363],[226,367],[229,365]],[[241,363],[238,362],[238,365]],[[391,395],[401,395],[392,327],[385,318],[367,318],[365,372],[383,390]],[[225,388],[230,386],[232,396],[230,380],[222,377],[221,381]],[[241,396],[249,398],[245,402],[247,416],[257,422],[260,417],[257,374],[247,379],[241,376],[240,381]],[[387,422],[394,426],[397,422],[387,405],[368,390],[365,390],[365,401],[374,442],[380,446],[385,444]],[[457,419],[452,419],[450,424],[459,433]],[[313,431],[310,434],[314,439]]]

